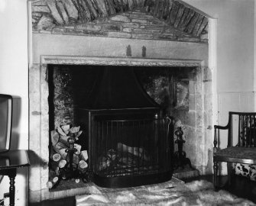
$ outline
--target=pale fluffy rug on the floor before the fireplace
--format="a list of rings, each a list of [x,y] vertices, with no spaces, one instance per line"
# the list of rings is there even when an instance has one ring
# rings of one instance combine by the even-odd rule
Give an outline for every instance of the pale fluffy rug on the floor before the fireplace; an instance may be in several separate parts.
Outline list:
[[[174,179],[175,180],[175,179]],[[87,205],[256,205],[224,190],[215,192],[205,180],[164,182],[134,188],[99,188],[76,196],[76,206]]]

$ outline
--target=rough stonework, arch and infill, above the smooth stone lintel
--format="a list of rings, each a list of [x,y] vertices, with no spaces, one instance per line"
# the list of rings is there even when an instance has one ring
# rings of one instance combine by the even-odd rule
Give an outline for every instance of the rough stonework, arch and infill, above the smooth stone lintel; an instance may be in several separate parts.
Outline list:
[[[50,34],[190,42],[208,38],[208,18],[175,0],[40,0],[32,2],[32,24],[34,32]]]

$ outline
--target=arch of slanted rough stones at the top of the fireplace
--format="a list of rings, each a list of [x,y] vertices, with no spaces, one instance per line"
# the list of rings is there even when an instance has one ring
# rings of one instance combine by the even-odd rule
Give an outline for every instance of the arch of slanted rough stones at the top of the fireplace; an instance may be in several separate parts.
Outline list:
[[[49,30],[56,25],[94,22],[135,9],[190,36],[207,34],[206,15],[177,0],[35,0],[32,24],[34,30]]]

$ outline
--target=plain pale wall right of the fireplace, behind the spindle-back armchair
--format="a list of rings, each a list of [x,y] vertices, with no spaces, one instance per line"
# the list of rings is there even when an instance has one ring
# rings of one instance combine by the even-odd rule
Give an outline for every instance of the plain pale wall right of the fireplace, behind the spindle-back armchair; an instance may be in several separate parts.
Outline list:
[[[183,0],[216,18],[215,66],[220,125],[228,123],[228,111],[256,111],[255,3],[254,0]],[[209,56],[211,58],[212,56]],[[215,81],[215,82],[214,82]],[[225,133],[223,134],[225,135]],[[220,147],[226,147],[222,141]],[[222,167],[225,174],[225,167]]]

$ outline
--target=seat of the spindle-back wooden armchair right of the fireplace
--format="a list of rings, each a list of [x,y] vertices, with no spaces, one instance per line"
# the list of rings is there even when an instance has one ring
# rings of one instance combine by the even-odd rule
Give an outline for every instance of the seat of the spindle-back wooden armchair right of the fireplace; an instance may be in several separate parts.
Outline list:
[[[215,161],[256,164],[256,147],[231,146],[213,154]]]

